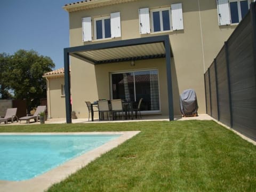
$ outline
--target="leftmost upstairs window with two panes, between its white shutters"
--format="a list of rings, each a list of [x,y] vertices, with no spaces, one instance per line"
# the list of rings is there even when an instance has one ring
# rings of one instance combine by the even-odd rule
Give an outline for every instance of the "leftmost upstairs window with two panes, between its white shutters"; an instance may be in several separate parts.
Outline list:
[[[104,17],[94,20],[94,37],[95,39],[111,37],[110,17]]]

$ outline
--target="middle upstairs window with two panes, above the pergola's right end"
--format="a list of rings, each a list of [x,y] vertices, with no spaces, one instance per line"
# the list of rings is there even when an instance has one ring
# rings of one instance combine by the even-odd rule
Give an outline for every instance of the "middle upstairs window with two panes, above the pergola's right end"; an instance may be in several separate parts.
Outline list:
[[[153,32],[171,30],[171,9],[151,10]]]

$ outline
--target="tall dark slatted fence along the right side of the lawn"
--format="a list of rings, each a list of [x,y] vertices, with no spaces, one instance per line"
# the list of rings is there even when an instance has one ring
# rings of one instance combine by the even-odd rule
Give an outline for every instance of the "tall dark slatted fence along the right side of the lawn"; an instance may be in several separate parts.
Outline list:
[[[204,74],[207,114],[256,140],[255,3]]]

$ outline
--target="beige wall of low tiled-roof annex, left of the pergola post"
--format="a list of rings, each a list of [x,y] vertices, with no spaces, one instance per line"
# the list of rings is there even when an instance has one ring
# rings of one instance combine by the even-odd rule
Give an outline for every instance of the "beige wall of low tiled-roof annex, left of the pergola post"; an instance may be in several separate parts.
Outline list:
[[[64,85],[64,77],[48,77],[47,110],[52,118],[66,117],[65,95],[61,95],[61,85]]]

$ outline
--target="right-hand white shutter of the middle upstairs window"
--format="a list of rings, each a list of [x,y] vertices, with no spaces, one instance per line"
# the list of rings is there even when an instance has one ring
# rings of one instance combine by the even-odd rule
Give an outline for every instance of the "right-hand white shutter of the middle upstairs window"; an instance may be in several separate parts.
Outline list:
[[[181,30],[184,29],[183,26],[183,13],[182,13],[182,4],[172,4],[172,30]]]

